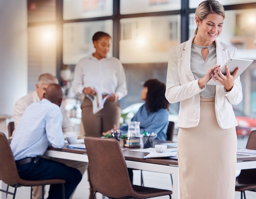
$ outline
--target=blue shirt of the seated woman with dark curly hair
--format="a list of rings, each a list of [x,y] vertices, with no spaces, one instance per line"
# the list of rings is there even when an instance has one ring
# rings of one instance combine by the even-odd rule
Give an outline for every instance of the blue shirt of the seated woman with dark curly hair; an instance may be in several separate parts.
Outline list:
[[[168,128],[168,112],[166,109],[159,109],[157,112],[148,112],[143,104],[135,116],[132,118],[132,121],[140,122],[139,127],[141,134],[144,131],[150,131],[157,133],[157,140],[166,140],[166,132]],[[123,133],[127,133],[128,126],[122,126],[121,130]]]

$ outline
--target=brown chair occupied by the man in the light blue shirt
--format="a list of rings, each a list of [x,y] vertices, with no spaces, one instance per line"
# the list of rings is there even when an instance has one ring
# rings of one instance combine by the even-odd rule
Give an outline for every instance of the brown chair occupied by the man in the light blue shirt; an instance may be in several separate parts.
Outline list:
[[[20,186],[31,186],[31,193],[32,193],[32,186],[43,186],[48,184],[62,184],[62,198],[65,199],[65,189],[64,184],[65,180],[63,179],[47,179],[47,180],[25,180],[21,179],[16,163],[13,157],[13,153],[11,151],[11,147],[9,141],[7,140],[4,133],[0,132],[0,180],[7,184],[8,186],[14,187],[14,191],[10,192],[7,190],[0,189],[1,192],[5,192],[6,195],[10,194],[13,195],[13,199],[16,195],[16,189]],[[44,195],[44,189],[43,189]],[[32,198],[32,194],[31,194]]]

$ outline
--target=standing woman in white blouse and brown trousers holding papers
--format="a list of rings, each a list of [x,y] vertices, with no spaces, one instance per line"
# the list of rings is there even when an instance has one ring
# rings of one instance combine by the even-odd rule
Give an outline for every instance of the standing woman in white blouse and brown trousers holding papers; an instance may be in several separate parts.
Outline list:
[[[95,94],[98,88],[103,97],[108,96],[104,108],[96,114],[92,112],[92,102],[85,97],[81,105],[85,136],[101,136],[103,131],[119,124],[121,108],[118,100],[126,96],[126,77],[121,61],[107,57],[111,37],[108,33],[97,32],[92,41],[94,53],[81,59],[74,71],[74,91],[77,94]]]

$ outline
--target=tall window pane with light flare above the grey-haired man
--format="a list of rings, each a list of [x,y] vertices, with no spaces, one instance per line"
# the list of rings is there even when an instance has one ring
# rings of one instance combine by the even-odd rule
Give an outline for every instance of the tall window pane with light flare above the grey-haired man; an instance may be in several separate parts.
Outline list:
[[[56,75],[56,26],[28,27],[28,91],[43,73]]]

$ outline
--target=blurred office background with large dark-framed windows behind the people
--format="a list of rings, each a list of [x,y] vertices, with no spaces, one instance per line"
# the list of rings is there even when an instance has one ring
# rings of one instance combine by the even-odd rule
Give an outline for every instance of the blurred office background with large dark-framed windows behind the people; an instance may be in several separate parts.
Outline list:
[[[112,36],[109,54],[124,65],[128,95],[121,99],[121,108],[141,103],[143,82],[165,82],[169,49],[193,35],[200,2],[0,0],[0,115],[12,115],[15,101],[35,89],[40,74],[49,72],[65,88],[67,111],[76,111],[70,116],[79,118],[81,96],[72,92],[72,72],[79,59],[94,51],[91,38],[97,31]],[[239,58],[256,60],[256,1],[219,2],[227,17],[218,39],[236,46]],[[256,61],[241,75],[241,83],[244,98],[234,109],[255,118]],[[171,105],[176,112],[178,107]],[[252,127],[243,125],[249,132],[256,128],[256,120]]]

